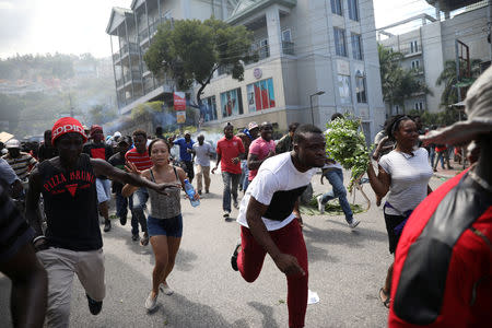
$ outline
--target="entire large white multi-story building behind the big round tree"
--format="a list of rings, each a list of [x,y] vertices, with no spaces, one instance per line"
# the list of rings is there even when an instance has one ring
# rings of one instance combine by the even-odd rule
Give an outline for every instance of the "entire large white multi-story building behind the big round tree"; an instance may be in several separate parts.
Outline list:
[[[153,77],[141,59],[156,25],[168,19],[203,20],[214,14],[254,32],[259,61],[246,65],[241,82],[223,71],[215,73],[202,95],[204,126],[231,121],[245,127],[269,120],[281,130],[293,121],[324,128],[333,113],[349,112],[361,118],[368,140],[380,129],[385,107],[372,1],[183,3],[136,0],[130,10],[113,10],[106,31],[112,35],[121,113],[147,101],[171,98],[171,81]],[[196,90],[192,93],[195,98]]]

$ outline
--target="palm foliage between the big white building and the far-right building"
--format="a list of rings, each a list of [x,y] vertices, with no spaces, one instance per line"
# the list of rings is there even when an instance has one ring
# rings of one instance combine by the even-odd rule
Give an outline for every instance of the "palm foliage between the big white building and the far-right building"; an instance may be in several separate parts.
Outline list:
[[[383,98],[391,107],[399,105],[403,108],[405,101],[418,93],[431,93],[425,82],[417,75],[417,70],[409,70],[401,67],[403,55],[393,49],[377,45],[379,55],[380,81]]]

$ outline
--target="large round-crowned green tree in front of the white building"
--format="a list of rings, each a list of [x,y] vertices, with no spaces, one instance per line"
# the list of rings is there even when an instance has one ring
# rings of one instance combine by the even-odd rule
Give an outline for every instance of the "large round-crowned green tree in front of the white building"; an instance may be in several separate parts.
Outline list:
[[[143,60],[154,74],[169,74],[179,90],[199,84],[200,105],[215,70],[222,68],[234,79],[244,79],[244,62],[257,58],[250,52],[251,43],[253,32],[245,26],[231,26],[213,17],[166,22],[159,27]]]

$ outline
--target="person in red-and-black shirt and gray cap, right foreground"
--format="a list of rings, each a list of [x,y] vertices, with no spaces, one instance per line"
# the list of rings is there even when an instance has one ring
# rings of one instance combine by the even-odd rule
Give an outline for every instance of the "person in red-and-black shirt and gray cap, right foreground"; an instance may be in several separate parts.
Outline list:
[[[421,139],[480,147],[476,164],[425,198],[398,243],[389,327],[492,323],[492,68],[467,93],[468,120]]]

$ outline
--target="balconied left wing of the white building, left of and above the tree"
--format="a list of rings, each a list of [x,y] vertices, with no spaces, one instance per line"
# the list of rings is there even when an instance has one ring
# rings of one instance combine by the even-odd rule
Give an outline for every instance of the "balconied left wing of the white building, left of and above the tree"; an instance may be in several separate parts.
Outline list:
[[[227,0],[132,0],[130,9],[113,8],[106,33],[110,37],[120,114],[145,102],[172,99],[173,81],[154,77],[142,59],[160,24],[212,15],[225,19],[232,10]]]

